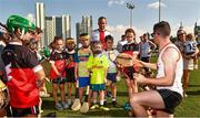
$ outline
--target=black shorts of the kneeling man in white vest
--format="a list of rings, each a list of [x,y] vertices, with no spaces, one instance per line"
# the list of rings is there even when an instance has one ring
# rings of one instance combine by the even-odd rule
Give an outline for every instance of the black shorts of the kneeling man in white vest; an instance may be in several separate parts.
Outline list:
[[[172,92],[170,89],[157,89],[157,90],[161,95],[164,101],[166,108],[163,109],[163,111],[168,114],[173,114],[174,108],[181,103],[182,96],[179,93]]]

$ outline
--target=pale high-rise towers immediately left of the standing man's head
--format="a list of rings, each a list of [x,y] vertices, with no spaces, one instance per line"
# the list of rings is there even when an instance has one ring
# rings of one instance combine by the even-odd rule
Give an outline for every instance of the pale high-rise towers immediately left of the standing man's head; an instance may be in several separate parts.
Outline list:
[[[82,17],[81,23],[76,23],[76,32],[77,32],[77,44],[79,44],[79,35],[81,33],[89,33],[91,36],[92,33],[92,17]]]

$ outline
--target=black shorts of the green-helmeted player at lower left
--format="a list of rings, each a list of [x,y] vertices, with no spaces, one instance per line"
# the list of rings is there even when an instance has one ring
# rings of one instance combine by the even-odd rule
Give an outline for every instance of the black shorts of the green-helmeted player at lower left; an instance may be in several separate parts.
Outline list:
[[[38,105],[29,107],[29,108],[11,107],[11,110],[12,110],[12,117],[24,117],[27,115],[38,115],[39,114]]]

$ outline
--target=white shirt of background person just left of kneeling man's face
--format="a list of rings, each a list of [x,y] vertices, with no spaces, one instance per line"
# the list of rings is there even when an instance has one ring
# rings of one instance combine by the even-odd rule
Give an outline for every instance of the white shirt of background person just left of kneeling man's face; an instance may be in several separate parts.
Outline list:
[[[149,42],[141,42],[140,43],[141,45],[141,57],[150,57],[150,51],[151,51],[151,47],[150,47],[150,44]]]

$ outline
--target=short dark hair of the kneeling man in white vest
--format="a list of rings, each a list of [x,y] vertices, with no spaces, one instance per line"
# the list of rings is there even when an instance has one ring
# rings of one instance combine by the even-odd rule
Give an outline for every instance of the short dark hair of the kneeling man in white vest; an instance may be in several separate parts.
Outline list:
[[[161,21],[154,24],[153,33],[159,32],[162,36],[170,36],[171,28],[166,21]]]

